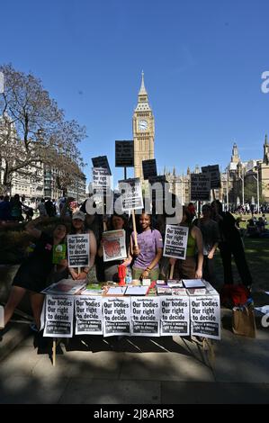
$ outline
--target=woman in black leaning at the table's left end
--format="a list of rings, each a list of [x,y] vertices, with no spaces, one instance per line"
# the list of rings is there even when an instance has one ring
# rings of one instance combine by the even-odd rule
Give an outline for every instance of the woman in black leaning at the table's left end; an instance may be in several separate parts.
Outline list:
[[[26,291],[29,291],[31,293],[33,318],[36,326],[40,328],[40,314],[44,300],[44,295],[40,292],[46,288],[49,274],[53,270],[53,246],[64,242],[67,235],[67,228],[63,224],[56,226],[52,236],[36,229],[35,225],[41,220],[44,220],[44,218],[31,220],[25,227],[27,232],[38,241],[31,257],[22,263],[13,279],[12,291],[4,307],[4,324],[11,319],[13,311],[22,301]]]

